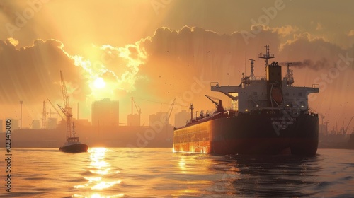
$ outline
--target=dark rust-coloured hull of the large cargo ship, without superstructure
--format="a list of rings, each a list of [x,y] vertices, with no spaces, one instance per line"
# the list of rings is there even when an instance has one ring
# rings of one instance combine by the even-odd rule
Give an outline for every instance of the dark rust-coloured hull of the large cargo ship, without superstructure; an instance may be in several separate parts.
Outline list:
[[[191,153],[314,155],[319,140],[319,118],[303,113],[244,114],[202,120],[176,129],[173,151]]]

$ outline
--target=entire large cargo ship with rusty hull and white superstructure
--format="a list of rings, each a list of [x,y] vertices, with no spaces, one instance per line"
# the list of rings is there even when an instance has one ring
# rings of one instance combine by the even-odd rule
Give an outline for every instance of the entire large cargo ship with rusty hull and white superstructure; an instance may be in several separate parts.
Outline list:
[[[319,93],[319,85],[294,86],[290,63],[282,78],[282,66],[278,62],[268,64],[274,58],[269,45],[265,54],[266,76],[243,74],[236,86],[220,86],[210,83],[211,91],[224,93],[231,98],[234,108],[224,109],[222,100],[212,100],[216,111],[201,112],[191,117],[184,127],[173,132],[173,151],[190,153],[234,154],[295,154],[315,155],[319,143],[319,117],[308,105],[308,95]]]

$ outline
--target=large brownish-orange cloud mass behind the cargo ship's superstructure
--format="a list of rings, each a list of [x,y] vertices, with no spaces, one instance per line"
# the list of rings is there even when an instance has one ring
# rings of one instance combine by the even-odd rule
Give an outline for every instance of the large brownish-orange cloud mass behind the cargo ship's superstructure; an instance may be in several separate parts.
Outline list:
[[[258,27],[261,27],[259,33],[253,34],[254,37],[249,37],[247,42],[241,31],[220,35],[187,26],[181,30],[157,29],[152,37],[139,45],[149,54],[146,64],[139,67],[139,74],[147,78],[137,81],[137,92],[133,93],[143,93],[143,97],[164,101],[179,98],[181,104],[188,106],[193,103],[200,110],[212,107],[203,94],[218,98],[223,95],[211,92],[207,82],[239,84],[242,73],[250,74],[248,59],[256,60],[255,75],[264,76],[264,62],[258,58],[258,53],[264,53],[264,46],[270,45],[270,53],[275,54],[271,61],[280,62],[282,66],[285,62],[292,62],[296,86],[320,83],[320,93],[311,104],[317,111],[326,113],[329,108],[338,108],[336,104],[346,103],[345,98],[351,97],[346,89],[354,86],[350,78],[354,63],[350,62],[345,71],[342,68],[345,68],[346,62],[341,62],[341,71],[336,69],[336,64],[343,57],[353,59],[353,47],[345,49],[324,37],[302,33],[293,26]],[[253,30],[258,28],[254,26]],[[282,70],[283,74],[285,70]],[[206,83],[198,86],[195,78],[202,78]],[[333,93],[336,96],[332,96]],[[319,105],[329,101],[327,98],[336,101],[336,104]],[[226,101],[224,104],[229,101],[228,98],[222,100]],[[185,110],[188,108],[185,107]],[[333,118],[329,116],[329,119]]]

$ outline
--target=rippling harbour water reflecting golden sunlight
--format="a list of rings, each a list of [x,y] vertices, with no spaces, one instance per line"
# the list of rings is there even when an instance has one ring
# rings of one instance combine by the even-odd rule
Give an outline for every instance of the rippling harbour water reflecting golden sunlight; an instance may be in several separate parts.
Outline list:
[[[5,153],[3,148],[1,153]],[[211,156],[171,148],[12,148],[0,197],[354,197],[354,150]],[[1,178],[6,164],[0,162]]]

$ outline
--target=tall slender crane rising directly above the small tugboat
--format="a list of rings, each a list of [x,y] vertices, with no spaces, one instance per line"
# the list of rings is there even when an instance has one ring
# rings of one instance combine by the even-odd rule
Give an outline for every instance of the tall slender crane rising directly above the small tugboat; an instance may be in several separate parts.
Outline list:
[[[60,71],[60,79],[62,83],[62,94],[64,100],[64,107],[58,105],[60,110],[67,117],[67,139],[72,137],[72,107],[69,105],[69,95],[67,94],[67,86],[65,85],[64,76],[62,71]]]

